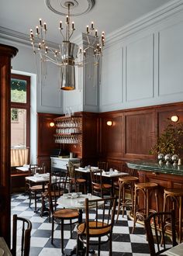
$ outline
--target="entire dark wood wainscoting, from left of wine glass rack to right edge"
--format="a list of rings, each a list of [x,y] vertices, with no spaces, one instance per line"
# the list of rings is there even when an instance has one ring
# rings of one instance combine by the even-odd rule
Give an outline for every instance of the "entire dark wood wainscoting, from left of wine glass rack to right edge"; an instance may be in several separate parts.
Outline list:
[[[82,165],[96,164],[98,160],[108,161],[109,168],[123,170],[126,161],[138,159],[153,160],[150,148],[157,141],[166,126],[167,118],[178,115],[183,122],[183,102],[126,109],[113,112],[78,112],[83,117],[82,144],[64,145],[82,159]],[[54,143],[55,128],[49,123],[57,115],[38,113],[38,162],[50,168],[50,154],[60,144]],[[107,121],[112,126],[107,126]]]

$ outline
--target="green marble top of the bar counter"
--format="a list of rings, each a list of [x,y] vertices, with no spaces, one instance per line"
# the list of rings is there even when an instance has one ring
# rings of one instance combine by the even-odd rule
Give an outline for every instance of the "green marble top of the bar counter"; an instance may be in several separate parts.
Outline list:
[[[158,161],[127,161],[127,166],[141,171],[154,171],[168,175],[182,175],[183,165],[174,166],[173,164],[160,164]]]

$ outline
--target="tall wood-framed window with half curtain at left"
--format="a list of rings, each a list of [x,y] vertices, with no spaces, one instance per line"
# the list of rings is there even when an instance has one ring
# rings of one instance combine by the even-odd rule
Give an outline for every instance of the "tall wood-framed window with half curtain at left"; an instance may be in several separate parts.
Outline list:
[[[29,163],[30,77],[12,74],[11,78],[11,165]]]

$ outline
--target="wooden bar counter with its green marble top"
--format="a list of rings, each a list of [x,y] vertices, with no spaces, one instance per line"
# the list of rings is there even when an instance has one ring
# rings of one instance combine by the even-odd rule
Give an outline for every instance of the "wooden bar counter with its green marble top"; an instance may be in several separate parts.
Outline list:
[[[139,182],[154,182],[158,187],[158,208],[163,210],[164,189],[183,189],[183,165],[159,164],[158,161],[127,161],[128,168],[138,170]],[[150,199],[151,209],[156,209],[154,197]],[[140,196],[140,207],[143,208],[143,197]]]

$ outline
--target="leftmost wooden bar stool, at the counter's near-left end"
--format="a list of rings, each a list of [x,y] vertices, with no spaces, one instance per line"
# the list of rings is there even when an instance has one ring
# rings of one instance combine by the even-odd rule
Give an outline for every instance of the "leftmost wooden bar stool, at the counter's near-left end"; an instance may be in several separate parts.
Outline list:
[[[134,206],[134,184],[138,181],[139,178],[133,176],[124,176],[119,178],[119,202],[118,202],[118,212],[116,217],[116,223],[119,218],[120,210],[123,208],[122,216],[124,216],[125,207],[129,206],[131,208],[131,213],[133,214]],[[130,194],[130,198],[126,198],[126,194]]]

